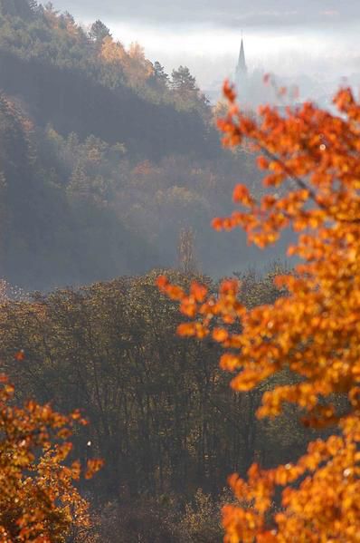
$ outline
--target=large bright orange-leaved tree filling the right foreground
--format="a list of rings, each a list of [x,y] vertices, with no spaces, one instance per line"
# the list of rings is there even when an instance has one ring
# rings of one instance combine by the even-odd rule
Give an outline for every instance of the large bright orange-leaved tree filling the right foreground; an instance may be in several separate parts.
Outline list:
[[[275,375],[291,373],[262,395],[260,418],[298,406],[309,428],[333,427],[298,461],[264,470],[253,464],[247,478],[232,475],[236,505],[223,508],[225,541],[355,542],[360,533],[360,103],[351,90],[334,98],[336,113],[311,102],[286,114],[270,106],[257,117],[243,114],[232,87],[219,121],[226,146],[245,141],[260,153],[266,193],[255,199],[234,189],[242,208],[216,218],[216,229],[243,228],[251,243],[267,247],[282,230],[298,236],[289,256],[300,263],[277,276],[284,296],[250,309],[238,297],[237,280],[225,280],[218,296],[194,284],[190,293],[158,279],[180,301],[190,320],[181,335],[223,346],[221,367],[233,373],[232,388],[249,392]],[[337,399],[345,398],[345,409]],[[281,495],[279,512],[272,504]]]

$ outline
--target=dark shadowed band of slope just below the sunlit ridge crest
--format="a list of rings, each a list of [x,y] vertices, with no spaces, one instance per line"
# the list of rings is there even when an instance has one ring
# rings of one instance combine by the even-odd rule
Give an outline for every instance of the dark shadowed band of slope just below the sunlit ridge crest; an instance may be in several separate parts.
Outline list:
[[[216,134],[198,113],[147,102],[123,84],[115,92],[74,68],[1,50],[0,74],[3,91],[20,99],[38,126],[50,122],[62,135],[121,141],[132,156],[149,160],[174,152],[201,158],[219,153]]]

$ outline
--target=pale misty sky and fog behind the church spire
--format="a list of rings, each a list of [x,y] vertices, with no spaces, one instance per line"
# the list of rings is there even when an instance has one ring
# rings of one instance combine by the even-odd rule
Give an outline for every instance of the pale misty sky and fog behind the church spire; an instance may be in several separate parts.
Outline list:
[[[187,64],[206,87],[233,71],[241,33],[250,68],[319,82],[360,73],[360,0],[54,0],[84,24],[100,18],[168,71]]]

